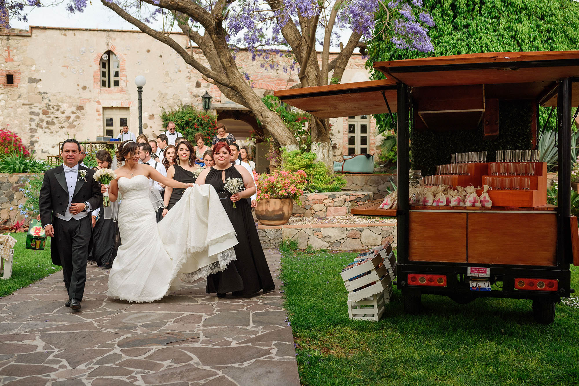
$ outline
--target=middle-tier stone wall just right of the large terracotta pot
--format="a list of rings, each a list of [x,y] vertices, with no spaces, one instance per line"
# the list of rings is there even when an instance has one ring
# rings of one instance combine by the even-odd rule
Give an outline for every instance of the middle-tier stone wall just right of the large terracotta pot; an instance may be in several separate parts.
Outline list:
[[[346,216],[351,207],[356,207],[372,200],[372,192],[324,192],[306,193],[299,200],[302,205],[294,201],[294,216],[303,217],[334,217]]]

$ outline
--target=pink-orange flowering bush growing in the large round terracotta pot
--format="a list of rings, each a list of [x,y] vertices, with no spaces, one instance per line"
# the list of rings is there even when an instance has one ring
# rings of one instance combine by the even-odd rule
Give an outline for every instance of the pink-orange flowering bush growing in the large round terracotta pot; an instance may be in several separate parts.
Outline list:
[[[303,194],[306,187],[306,172],[297,170],[296,172],[275,171],[270,175],[258,175],[254,172],[254,179],[257,185],[257,201],[268,198],[291,198],[297,199]]]

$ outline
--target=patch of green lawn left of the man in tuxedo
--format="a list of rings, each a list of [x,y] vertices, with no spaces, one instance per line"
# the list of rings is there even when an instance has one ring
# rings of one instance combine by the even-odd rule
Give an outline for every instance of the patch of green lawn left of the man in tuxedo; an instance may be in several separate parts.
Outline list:
[[[36,280],[62,269],[60,265],[54,265],[50,259],[50,237],[46,241],[45,250],[32,251],[24,248],[26,233],[10,233],[10,236],[18,242],[14,246],[12,277],[8,280],[0,279],[0,296],[12,294],[17,289],[27,287]]]

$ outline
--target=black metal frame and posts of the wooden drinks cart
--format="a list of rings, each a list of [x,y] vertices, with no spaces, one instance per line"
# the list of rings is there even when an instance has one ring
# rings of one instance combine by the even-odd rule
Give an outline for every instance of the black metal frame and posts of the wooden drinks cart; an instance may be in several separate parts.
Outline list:
[[[566,62],[567,63],[567,62]],[[534,64],[534,62],[533,62]],[[538,63],[544,65],[543,62]],[[573,62],[576,64],[576,61]],[[549,65],[553,65],[549,61]],[[480,68],[480,64],[477,65]],[[493,64],[496,68],[497,64]],[[530,65],[533,66],[533,65]],[[527,65],[527,67],[530,67]],[[449,66],[440,66],[448,70]],[[452,66],[450,66],[452,67]],[[490,67],[490,65],[489,65]],[[406,68],[408,69],[408,68]],[[455,68],[453,68],[455,69]],[[457,68],[456,68],[457,69]],[[460,68],[464,69],[464,68]],[[416,70],[416,69],[415,69]],[[559,197],[557,216],[557,256],[556,266],[515,266],[498,264],[476,264],[476,266],[490,268],[490,281],[496,283],[502,281],[502,291],[471,291],[468,284],[467,266],[472,263],[440,263],[440,262],[416,262],[408,260],[409,253],[409,204],[408,200],[398,201],[398,279],[397,286],[402,289],[402,296],[406,294],[435,294],[450,296],[455,300],[467,302],[475,298],[512,298],[512,299],[546,299],[556,302],[562,296],[569,297],[574,292],[571,289],[570,262],[572,261],[571,235],[569,227],[570,217],[570,191],[571,191],[571,82],[572,79],[564,79],[559,82],[558,88],[558,181]],[[398,196],[408,197],[408,171],[409,165],[409,112],[411,97],[409,88],[403,83],[398,83]],[[538,113],[538,110],[537,110]],[[545,214],[545,216],[548,216]],[[446,274],[446,287],[427,287],[408,285],[409,273],[436,273]],[[522,291],[515,289],[515,277],[556,279],[559,281],[559,291]]]

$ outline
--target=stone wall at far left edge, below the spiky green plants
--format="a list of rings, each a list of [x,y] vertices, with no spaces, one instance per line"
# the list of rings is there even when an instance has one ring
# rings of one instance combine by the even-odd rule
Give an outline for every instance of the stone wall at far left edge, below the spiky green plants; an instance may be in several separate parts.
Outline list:
[[[26,198],[21,189],[28,182],[31,175],[0,173],[0,224],[13,224],[14,221],[25,220],[28,225],[31,216],[21,214],[20,207],[24,206]],[[6,223],[5,220],[8,220]]]

